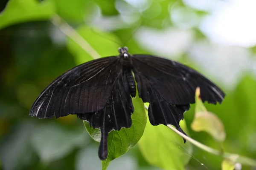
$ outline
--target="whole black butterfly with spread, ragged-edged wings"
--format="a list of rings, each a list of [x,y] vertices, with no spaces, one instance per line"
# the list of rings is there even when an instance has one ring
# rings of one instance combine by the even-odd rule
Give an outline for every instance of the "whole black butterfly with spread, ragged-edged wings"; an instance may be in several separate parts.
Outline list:
[[[99,158],[104,160],[109,132],[131,127],[135,80],[139,97],[150,103],[150,123],[172,124],[182,133],[179,122],[189,104],[195,103],[197,87],[203,102],[216,104],[224,99],[218,86],[181,63],[151,55],[130,55],[127,47],[118,51],[119,56],[83,63],[56,78],[38,96],[29,115],[58,118],[76,114],[88,121],[101,130]]]

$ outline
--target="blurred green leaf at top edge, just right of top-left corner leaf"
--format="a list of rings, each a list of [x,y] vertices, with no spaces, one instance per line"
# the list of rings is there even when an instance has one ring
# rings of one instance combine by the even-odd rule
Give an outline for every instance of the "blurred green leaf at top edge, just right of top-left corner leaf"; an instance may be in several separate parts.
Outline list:
[[[52,0],[60,17],[71,22],[83,22],[87,0]]]

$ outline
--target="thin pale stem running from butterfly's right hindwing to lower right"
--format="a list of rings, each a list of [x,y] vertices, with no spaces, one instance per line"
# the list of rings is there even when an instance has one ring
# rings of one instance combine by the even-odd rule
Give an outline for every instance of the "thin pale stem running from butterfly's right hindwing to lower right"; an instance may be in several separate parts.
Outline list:
[[[145,109],[148,110],[148,107],[146,105],[145,105]],[[204,144],[201,144],[200,142],[196,141],[195,139],[190,138],[187,135],[184,135],[183,133],[178,131],[175,127],[172,127],[172,125],[167,125],[167,127],[169,127],[171,130],[173,130],[175,133],[177,133],[178,135],[180,135],[181,137],[183,137],[184,139],[186,139],[190,143],[194,144],[195,146],[199,147],[202,150],[207,151],[208,153],[212,153],[214,155],[222,156],[223,158],[227,158],[227,159],[235,158],[235,160],[233,160],[235,162],[239,162],[241,164],[247,164],[247,165],[256,167],[256,160],[255,159],[248,158],[248,157],[245,157],[245,156],[240,156],[240,155],[234,154],[234,153],[225,153],[223,150],[222,150],[222,152],[219,151],[219,150],[215,150],[211,147],[208,147]]]

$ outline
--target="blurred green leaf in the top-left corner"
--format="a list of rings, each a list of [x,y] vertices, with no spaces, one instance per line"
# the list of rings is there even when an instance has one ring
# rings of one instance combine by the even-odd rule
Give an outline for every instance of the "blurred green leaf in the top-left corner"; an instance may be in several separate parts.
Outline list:
[[[49,0],[9,0],[0,13],[0,29],[17,23],[47,20],[55,13],[54,4]]]

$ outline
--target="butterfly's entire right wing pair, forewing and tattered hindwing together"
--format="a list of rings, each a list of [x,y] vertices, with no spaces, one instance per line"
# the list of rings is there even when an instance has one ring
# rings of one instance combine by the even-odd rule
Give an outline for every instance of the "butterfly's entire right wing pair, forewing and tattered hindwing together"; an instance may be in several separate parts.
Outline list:
[[[181,63],[150,55],[133,55],[132,61],[139,96],[150,103],[148,117],[152,125],[172,124],[184,133],[179,122],[189,104],[195,103],[197,87],[202,101],[221,103],[225,96],[215,84]]]

